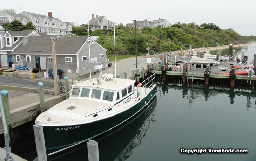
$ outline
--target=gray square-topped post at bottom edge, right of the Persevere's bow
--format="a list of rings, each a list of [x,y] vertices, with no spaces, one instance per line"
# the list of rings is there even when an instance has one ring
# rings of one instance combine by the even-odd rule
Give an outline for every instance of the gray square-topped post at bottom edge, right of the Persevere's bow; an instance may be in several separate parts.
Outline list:
[[[90,140],[87,142],[88,161],[99,161],[99,146],[98,142]]]

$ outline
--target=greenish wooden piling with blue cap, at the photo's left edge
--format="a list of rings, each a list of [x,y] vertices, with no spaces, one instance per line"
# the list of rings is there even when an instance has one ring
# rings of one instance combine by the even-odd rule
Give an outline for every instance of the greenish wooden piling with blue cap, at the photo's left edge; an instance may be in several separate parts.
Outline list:
[[[12,123],[11,123],[11,113],[10,113],[10,104],[9,104],[9,98],[8,98],[8,91],[6,91],[6,90],[1,91],[1,99],[2,99],[2,104],[3,104],[3,108],[4,108],[5,120],[6,120],[8,134],[10,134],[10,129],[8,127],[9,127],[9,125],[12,125]],[[9,136],[9,142],[10,142],[11,141],[11,136],[10,135],[8,135],[8,136]]]

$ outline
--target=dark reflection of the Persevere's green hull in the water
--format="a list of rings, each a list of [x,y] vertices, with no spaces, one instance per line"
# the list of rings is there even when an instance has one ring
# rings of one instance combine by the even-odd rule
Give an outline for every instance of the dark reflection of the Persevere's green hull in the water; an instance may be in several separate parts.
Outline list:
[[[133,149],[142,144],[149,126],[155,121],[155,108],[157,97],[155,96],[148,106],[133,120],[94,138],[99,145],[99,159],[104,161],[124,161],[133,154]],[[83,143],[68,151],[50,156],[49,161],[88,160],[87,143]]]

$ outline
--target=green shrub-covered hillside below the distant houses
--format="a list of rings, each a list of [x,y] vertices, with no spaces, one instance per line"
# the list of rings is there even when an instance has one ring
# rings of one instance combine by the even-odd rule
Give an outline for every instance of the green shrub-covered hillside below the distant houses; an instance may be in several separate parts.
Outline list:
[[[135,55],[135,29],[115,30],[116,54]],[[160,48],[159,48],[160,36]],[[217,46],[211,39],[220,45],[247,43],[247,38],[239,35],[233,29],[220,30],[211,28],[200,28],[194,23],[189,23],[186,27],[168,28],[143,28],[137,29],[137,55],[146,54],[149,47],[150,53],[168,52],[205,47]],[[97,42],[106,48],[107,54],[114,54],[114,30],[105,31]]]

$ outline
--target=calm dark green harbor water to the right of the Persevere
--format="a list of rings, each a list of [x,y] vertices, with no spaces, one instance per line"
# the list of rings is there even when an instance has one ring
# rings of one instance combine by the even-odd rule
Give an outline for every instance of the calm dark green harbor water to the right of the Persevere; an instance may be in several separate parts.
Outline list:
[[[256,158],[256,94],[251,89],[158,83],[149,108],[118,131],[96,138],[101,161],[243,160]],[[74,135],[75,136],[75,135]],[[248,149],[184,154],[180,149]],[[50,160],[87,160],[86,144]]]

